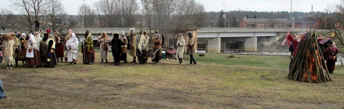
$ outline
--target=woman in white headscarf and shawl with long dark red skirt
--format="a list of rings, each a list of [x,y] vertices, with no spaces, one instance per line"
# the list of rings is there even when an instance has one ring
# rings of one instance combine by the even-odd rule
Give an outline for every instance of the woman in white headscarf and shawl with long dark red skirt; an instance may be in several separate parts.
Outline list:
[[[41,56],[37,47],[37,42],[35,36],[30,34],[28,41],[28,49],[26,50],[26,60],[28,61],[28,66],[36,68],[37,65],[41,64]]]

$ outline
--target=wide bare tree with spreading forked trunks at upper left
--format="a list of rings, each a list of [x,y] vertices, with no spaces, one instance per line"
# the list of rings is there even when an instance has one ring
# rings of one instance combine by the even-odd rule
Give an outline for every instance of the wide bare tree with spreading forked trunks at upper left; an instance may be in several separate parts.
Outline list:
[[[10,0],[14,7],[19,7],[25,13],[25,18],[28,23],[26,24],[30,29],[34,21],[39,21],[40,17],[44,15],[45,1],[44,0]],[[33,13],[33,14],[32,14]],[[22,22],[21,22],[22,23]]]

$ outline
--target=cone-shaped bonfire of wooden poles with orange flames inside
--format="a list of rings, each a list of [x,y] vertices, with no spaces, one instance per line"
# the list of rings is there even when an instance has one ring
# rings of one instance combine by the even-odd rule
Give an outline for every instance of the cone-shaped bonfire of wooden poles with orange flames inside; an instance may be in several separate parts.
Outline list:
[[[308,33],[301,39],[288,79],[309,83],[332,81],[322,57],[314,30],[312,35]]]

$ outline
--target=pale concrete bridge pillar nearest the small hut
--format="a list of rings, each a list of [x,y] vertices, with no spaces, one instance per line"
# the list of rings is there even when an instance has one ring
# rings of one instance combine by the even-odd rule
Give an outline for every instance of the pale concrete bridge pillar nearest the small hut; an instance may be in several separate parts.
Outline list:
[[[220,53],[221,51],[221,38],[208,38],[207,42],[208,52]]]

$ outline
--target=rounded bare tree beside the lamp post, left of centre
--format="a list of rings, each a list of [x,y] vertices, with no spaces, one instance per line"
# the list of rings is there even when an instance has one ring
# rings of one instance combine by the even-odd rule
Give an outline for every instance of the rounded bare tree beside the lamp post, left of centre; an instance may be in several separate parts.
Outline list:
[[[95,21],[95,10],[91,8],[90,5],[84,4],[79,7],[79,16],[80,19],[84,17],[84,25],[85,27],[92,27]]]

